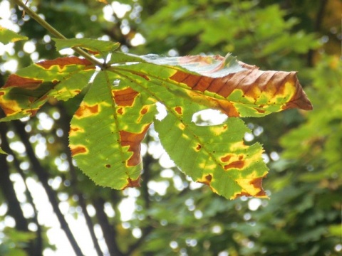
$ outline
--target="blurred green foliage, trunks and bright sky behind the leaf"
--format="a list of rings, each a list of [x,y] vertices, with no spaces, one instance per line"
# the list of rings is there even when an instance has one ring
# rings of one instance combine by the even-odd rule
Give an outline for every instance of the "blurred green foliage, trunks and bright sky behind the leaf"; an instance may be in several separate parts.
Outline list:
[[[51,101],[36,117],[0,123],[1,147],[9,153],[0,156],[0,255],[61,255],[56,239],[64,234],[68,255],[340,255],[342,1],[108,2],[28,5],[68,38],[118,41],[124,52],[231,52],[261,70],[297,70],[314,110],[245,119],[246,143],[264,144],[270,200],[227,201],[191,182],[153,131],[142,146],[141,188],[95,186],[68,149],[68,122],[82,95]],[[22,19],[11,1],[1,0],[0,10],[1,26],[29,38],[0,46],[1,85],[16,68],[68,54],[56,52],[51,36]],[[84,220],[87,234],[73,228],[76,220]]]

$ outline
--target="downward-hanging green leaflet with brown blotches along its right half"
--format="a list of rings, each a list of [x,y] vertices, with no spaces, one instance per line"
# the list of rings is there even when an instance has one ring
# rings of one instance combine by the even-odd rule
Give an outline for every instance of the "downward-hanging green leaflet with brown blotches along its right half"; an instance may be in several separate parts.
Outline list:
[[[155,115],[142,94],[113,86],[99,73],[76,111],[69,134],[73,158],[95,183],[115,189],[139,186],[140,143]]]

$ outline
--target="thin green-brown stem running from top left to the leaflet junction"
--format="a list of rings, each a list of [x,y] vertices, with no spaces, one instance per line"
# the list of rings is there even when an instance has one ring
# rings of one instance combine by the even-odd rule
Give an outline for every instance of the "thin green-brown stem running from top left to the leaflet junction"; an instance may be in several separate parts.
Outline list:
[[[35,21],[37,21],[43,28],[45,28],[53,36],[56,36],[56,38],[60,38],[60,39],[67,39],[65,36],[63,36],[63,34],[61,32],[56,30],[56,28],[53,28],[53,26],[51,26],[48,22],[43,20],[43,18],[41,18],[38,14],[36,14],[35,11],[30,9],[28,6],[26,6],[26,4],[24,2],[22,2],[21,0],[13,0],[13,1],[15,4],[17,4],[22,9],[24,9],[25,13],[28,14],[28,16],[30,16]],[[86,51],[82,50],[81,48],[73,47],[72,49],[75,50],[75,52],[78,53],[79,55],[81,55],[84,58],[86,58],[87,60],[89,60],[94,65],[97,65],[100,68],[104,68],[103,63],[101,63],[99,60],[96,60],[95,58],[93,58],[92,55],[86,53]]]

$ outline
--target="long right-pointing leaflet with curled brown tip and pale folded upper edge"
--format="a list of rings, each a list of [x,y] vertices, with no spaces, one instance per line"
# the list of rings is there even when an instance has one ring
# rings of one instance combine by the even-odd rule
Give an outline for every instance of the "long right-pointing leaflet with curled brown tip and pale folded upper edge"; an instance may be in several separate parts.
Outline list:
[[[169,62],[148,55],[144,59],[150,63],[122,65],[113,71],[147,77],[150,83],[162,81],[167,86],[165,93],[172,90],[178,97],[221,110],[229,117],[262,117],[294,107],[312,109],[294,72],[261,71],[242,62],[239,67],[229,55],[177,57]]]

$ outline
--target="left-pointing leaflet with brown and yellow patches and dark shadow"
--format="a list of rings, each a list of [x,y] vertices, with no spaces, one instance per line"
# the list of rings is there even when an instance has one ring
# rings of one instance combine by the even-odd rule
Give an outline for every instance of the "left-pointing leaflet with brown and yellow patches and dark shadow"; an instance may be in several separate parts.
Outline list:
[[[94,70],[92,63],[77,57],[44,60],[19,70],[0,88],[0,108],[6,114],[0,121],[33,116],[49,97],[76,96]]]

